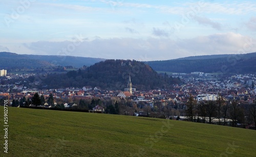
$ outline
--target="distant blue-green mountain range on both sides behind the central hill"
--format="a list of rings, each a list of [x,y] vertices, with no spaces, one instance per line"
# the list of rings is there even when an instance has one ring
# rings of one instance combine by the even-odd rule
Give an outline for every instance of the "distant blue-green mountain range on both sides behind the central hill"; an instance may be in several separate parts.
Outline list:
[[[42,66],[91,66],[106,59],[73,57],[73,56],[45,56],[18,55],[0,52],[0,69],[8,68],[36,68]],[[208,73],[255,73],[256,53],[238,55],[206,55],[191,56],[165,61],[144,62],[156,71],[185,72],[202,71]]]

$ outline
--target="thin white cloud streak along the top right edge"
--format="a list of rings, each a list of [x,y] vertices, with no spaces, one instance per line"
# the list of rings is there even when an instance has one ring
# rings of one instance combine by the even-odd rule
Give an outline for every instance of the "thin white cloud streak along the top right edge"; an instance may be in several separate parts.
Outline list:
[[[256,12],[256,4],[252,2],[234,2],[234,3],[218,3],[218,2],[193,2],[193,3],[174,3],[172,5],[151,5],[143,3],[126,3],[124,1],[105,1],[102,3],[111,4],[115,7],[139,8],[139,9],[155,9],[160,12],[169,14],[184,14],[191,11],[191,8],[200,8],[201,13],[222,13],[241,15]]]

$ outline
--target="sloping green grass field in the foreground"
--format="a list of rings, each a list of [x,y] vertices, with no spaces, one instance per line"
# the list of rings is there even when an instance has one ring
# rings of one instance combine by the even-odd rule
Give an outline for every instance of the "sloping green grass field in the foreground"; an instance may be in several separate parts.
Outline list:
[[[11,107],[8,118],[4,156],[256,156],[256,131],[242,128]]]

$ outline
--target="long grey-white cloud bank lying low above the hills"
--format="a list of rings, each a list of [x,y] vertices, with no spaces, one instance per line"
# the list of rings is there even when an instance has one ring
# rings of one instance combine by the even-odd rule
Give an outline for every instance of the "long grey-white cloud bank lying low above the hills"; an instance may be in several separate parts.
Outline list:
[[[236,33],[212,34],[191,39],[111,38],[82,41],[38,41],[26,47],[35,54],[67,55],[105,59],[169,60],[187,56],[241,54],[256,51],[256,39]],[[244,50],[243,51],[241,51]],[[18,52],[14,52],[18,53]]]

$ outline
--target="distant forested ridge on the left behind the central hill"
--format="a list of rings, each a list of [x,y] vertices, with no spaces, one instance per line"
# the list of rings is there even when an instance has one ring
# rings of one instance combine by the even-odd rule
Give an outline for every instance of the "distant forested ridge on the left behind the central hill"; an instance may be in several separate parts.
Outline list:
[[[0,68],[31,68],[42,66],[90,66],[104,61],[100,58],[74,56],[47,56],[47,55],[18,55],[15,53],[0,52]]]

